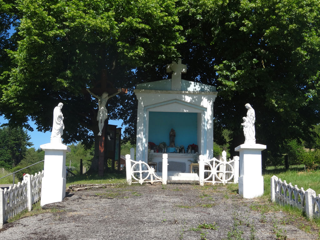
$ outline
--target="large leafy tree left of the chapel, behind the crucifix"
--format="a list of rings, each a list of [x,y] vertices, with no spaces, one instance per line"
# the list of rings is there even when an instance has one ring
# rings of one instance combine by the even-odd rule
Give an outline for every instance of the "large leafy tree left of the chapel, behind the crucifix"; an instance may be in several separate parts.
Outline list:
[[[99,92],[110,81],[132,90],[133,69],[177,59],[175,46],[184,41],[173,0],[22,0],[15,6],[20,41],[7,50],[12,66],[0,80],[0,114],[16,124],[31,118],[48,131],[53,108],[63,102],[64,142],[95,141],[96,157],[97,101],[86,88]],[[133,98],[129,91],[109,100],[109,119],[126,119],[130,111],[115,109],[135,105]]]

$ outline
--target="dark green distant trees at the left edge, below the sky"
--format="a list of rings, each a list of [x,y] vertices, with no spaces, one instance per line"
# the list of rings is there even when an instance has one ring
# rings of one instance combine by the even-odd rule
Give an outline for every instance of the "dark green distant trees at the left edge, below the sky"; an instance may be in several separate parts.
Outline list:
[[[0,167],[10,169],[19,164],[27,147],[33,145],[29,140],[27,131],[21,127],[0,128]]]

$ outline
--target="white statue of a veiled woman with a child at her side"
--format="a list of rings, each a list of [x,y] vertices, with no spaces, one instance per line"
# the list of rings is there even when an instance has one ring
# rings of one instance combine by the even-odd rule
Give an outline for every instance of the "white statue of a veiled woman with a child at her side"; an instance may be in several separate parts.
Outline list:
[[[254,109],[251,107],[249,103],[245,105],[245,108],[248,109],[247,116],[243,117],[242,119],[244,122],[241,124],[243,126],[244,132],[244,143],[256,143],[255,139],[255,129],[254,129],[254,122],[256,120],[256,116],[254,113]]]

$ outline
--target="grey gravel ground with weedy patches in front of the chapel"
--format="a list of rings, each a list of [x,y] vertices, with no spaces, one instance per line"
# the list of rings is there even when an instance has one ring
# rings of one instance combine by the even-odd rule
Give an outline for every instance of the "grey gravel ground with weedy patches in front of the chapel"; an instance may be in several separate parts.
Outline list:
[[[62,202],[44,206],[59,211],[5,224],[0,239],[316,240],[318,236],[304,218],[273,212],[271,203],[243,199],[226,186],[116,185],[67,194]]]

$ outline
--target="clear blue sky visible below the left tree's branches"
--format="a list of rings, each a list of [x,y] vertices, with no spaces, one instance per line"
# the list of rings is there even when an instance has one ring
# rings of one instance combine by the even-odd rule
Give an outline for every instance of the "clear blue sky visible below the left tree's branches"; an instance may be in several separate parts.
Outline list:
[[[0,116],[0,126],[4,123],[8,123],[6,119],[4,119],[4,116]],[[109,120],[109,124],[111,125],[117,125],[118,127],[121,127],[121,124],[123,123],[122,120]],[[38,132],[36,130],[36,125],[34,122],[29,121],[30,126],[33,128],[33,132],[28,131],[28,135],[31,137],[30,141],[34,144],[32,147],[38,149],[41,144],[45,144],[50,142],[50,136],[51,132]],[[97,121],[98,124],[98,121]],[[65,126],[68,127],[68,126]],[[124,129],[125,126],[122,128]],[[122,130],[123,131],[123,130]],[[62,136],[63,139],[63,136]]]

